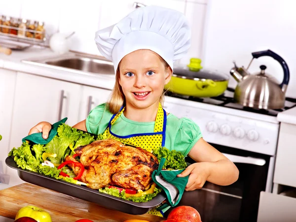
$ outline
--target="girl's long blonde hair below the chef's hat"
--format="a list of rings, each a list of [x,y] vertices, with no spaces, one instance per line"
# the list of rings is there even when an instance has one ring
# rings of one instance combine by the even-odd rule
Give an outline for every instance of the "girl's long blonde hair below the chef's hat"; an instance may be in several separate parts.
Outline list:
[[[164,63],[166,70],[171,69],[169,64],[162,57],[160,57],[160,59]],[[118,67],[117,67],[117,70],[116,70],[115,85],[114,85],[114,88],[113,88],[113,90],[111,92],[111,96],[110,96],[110,98],[109,98],[109,100],[107,102],[107,109],[113,114],[119,112],[120,108],[122,106],[125,106],[125,96],[123,94],[121,85],[119,84],[119,78],[120,78],[119,65],[120,65],[120,63],[118,64]],[[160,102],[161,106],[163,106],[164,92],[161,94],[161,96],[159,98],[159,102]]]

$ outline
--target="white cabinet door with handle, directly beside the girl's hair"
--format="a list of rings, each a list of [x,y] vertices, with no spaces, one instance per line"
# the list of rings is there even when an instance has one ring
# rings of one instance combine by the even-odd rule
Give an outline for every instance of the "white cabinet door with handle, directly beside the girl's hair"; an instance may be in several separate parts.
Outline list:
[[[106,103],[110,94],[111,90],[108,89],[83,86],[79,110],[79,121],[84,120],[88,113],[96,106]]]

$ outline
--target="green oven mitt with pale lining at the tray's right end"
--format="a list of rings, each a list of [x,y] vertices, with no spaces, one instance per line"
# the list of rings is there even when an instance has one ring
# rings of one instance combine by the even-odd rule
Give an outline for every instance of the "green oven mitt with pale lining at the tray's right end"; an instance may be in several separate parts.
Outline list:
[[[186,177],[177,177],[183,170],[162,170],[165,158],[161,158],[158,170],[152,173],[152,180],[160,186],[166,193],[168,204],[160,206],[157,210],[162,210],[169,206],[176,206],[184,193],[185,186],[187,185],[189,175]]]

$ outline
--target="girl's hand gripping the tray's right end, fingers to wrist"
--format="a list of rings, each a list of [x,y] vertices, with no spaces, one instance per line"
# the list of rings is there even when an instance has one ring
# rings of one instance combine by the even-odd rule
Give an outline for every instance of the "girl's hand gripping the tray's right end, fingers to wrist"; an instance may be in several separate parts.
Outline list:
[[[189,175],[188,183],[185,187],[186,191],[200,189],[206,183],[210,176],[210,170],[206,162],[193,163],[189,165],[178,177],[186,177]]]

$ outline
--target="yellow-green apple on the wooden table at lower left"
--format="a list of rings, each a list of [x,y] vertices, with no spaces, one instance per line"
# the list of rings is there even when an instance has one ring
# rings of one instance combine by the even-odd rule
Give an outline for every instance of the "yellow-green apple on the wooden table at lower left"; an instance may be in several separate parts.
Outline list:
[[[41,208],[29,205],[26,207],[21,208],[16,216],[15,220],[22,218],[22,217],[29,217],[35,219],[37,222],[51,222],[50,215]]]

